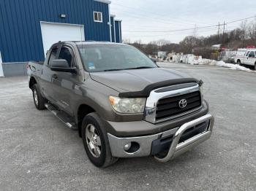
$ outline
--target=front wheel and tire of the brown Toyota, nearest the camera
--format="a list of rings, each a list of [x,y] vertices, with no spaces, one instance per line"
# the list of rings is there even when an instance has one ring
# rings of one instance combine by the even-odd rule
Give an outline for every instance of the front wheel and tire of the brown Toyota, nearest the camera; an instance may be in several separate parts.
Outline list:
[[[87,156],[95,166],[106,168],[118,160],[118,158],[113,157],[111,154],[108,134],[97,113],[94,112],[84,117],[82,122],[82,139]]]

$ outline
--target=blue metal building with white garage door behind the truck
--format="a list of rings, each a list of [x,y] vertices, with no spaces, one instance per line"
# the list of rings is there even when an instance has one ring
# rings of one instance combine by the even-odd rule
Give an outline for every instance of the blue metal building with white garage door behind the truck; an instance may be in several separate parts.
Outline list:
[[[0,69],[26,74],[50,44],[67,40],[121,42],[121,20],[108,0],[0,0]],[[1,76],[1,71],[0,71]]]

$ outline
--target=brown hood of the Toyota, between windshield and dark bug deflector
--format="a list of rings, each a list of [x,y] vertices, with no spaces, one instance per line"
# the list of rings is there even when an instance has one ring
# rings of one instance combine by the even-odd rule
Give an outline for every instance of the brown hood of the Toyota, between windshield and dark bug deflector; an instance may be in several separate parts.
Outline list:
[[[90,75],[91,79],[111,87],[119,93],[137,92],[154,83],[189,77],[180,71],[162,68],[105,71]]]

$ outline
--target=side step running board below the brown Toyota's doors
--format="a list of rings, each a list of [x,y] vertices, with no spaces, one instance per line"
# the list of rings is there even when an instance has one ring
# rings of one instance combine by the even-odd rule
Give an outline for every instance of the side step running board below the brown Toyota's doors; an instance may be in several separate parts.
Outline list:
[[[61,122],[64,122],[64,124],[68,127],[71,128],[73,130],[78,130],[78,127],[75,125],[75,122],[73,121],[72,117],[69,117],[68,114],[66,114],[65,112],[62,112],[58,109],[56,109],[55,106],[53,106],[52,104],[45,104],[45,107],[52,112],[56,117],[59,118],[59,120],[61,120]]]

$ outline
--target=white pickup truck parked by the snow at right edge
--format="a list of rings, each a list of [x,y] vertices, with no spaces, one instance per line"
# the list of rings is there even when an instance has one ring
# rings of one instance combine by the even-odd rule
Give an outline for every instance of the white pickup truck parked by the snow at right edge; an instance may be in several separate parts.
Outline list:
[[[254,66],[256,70],[256,50],[247,50],[244,55],[236,56],[235,63]]]

